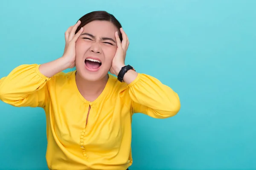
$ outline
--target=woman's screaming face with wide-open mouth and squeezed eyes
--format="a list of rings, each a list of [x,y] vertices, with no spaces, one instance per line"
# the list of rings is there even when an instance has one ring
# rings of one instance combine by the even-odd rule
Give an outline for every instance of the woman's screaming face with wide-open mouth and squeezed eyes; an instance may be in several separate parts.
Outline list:
[[[118,28],[109,21],[92,21],[83,26],[76,41],[76,69],[86,80],[97,81],[108,74],[116,54],[115,32]]]

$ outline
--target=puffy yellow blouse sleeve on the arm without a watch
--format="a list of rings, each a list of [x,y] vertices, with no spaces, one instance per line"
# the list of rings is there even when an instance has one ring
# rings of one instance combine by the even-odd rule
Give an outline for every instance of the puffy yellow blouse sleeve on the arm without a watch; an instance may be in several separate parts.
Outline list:
[[[48,90],[40,65],[20,65],[0,79],[0,100],[16,107],[44,107]]]

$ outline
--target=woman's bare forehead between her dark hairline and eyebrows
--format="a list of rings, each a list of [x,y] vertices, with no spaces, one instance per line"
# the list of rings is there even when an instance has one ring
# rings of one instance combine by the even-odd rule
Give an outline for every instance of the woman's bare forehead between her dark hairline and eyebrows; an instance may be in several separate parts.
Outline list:
[[[109,21],[92,21],[85,26],[83,26],[84,31],[95,36],[114,36],[117,31],[116,26]]]

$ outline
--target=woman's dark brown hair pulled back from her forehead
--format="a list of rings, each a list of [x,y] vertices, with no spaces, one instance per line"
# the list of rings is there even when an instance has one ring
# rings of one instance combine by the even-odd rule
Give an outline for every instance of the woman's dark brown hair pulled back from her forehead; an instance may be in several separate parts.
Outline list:
[[[114,26],[116,26],[116,28],[118,28],[118,35],[119,35],[120,40],[122,41],[122,35],[120,32],[120,28],[122,27],[121,23],[119,23],[119,21],[116,19],[116,17],[114,17],[112,14],[109,14],[106,11],[93,11],[88,14],[85,14],[79,20],[81,21],[81,24],[76,29],[76,33],[81,29],[81,27],[85,26],[86,24],[88,24],[92,21],[95,21],[95,20],[109,21],[109,22],[113,23]]]

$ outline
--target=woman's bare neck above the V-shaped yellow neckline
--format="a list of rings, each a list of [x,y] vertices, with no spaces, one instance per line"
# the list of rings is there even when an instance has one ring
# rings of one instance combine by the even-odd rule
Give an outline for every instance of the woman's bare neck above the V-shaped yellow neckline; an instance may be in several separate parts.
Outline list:
[[[104,90],[108,82],[108,74],[97,81],[88,81],[76,73],[76,85],[81,95],[87,101],[93,102]]]

